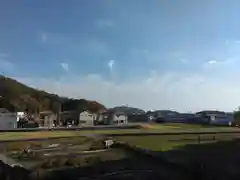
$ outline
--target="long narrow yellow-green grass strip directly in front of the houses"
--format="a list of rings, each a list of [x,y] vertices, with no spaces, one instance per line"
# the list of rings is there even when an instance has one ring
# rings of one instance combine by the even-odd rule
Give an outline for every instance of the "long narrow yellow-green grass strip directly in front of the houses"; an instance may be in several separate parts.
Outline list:
[[[72,137],[85,134],[124,134],[124,133],[158,133],[158,132],[206,132],[206,131],[230,131],[239,130],[233,127],[212,127],[198,124],[163,123],[143,124],[141,129],[104,129],[104,130],[79,130],[79,131],[42,131],[42,132],[3,132],[0,133],[1,140],[18,140],[27,138],[51,138],[51,137]]]

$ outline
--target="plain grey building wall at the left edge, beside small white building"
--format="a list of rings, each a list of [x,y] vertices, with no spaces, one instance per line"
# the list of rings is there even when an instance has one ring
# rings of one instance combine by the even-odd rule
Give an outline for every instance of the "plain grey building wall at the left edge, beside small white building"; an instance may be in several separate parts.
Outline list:
[[[0,113],[0,129],[17,128],[16,113]]]

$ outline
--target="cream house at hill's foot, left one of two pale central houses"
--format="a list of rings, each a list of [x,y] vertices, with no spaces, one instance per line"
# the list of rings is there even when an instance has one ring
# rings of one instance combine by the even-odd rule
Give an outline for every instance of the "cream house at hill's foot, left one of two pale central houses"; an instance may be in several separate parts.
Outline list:
[[[98,114],[85,110],[79,114],[79,125],[93,126],[97,120]]]

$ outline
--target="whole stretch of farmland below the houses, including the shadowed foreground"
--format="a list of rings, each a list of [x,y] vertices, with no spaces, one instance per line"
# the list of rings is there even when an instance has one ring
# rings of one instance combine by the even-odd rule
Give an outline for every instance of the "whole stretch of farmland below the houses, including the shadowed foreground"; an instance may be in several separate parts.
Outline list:
[[[103,140],[109,137],[115,144],[105,149]],[[9,165],[22,165],[26,173],[23,179],[191,179],[198,176],[192,171],[199,169],[199,162],[208,165],[206,172],[210,172],[211,164],[221,169],[217,162],[226,161],[231,167],[232,158],[237,157],[239,137],[236,128],[184,124],[7,132],[0,134],[0,156]],[[219,148],[221,151],[215,153]]]

